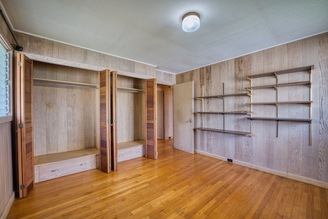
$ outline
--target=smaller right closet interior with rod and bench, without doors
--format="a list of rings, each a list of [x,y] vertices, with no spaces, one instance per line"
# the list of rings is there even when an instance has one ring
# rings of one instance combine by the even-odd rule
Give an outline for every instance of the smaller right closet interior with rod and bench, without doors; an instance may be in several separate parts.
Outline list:
[[[118,162],[146,154],[145,79],[117,77]]]

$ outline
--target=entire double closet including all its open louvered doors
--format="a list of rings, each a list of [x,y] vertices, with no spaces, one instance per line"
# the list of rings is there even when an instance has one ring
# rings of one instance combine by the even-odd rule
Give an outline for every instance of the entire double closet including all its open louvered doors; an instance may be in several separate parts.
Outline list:
[[[157,158],[156,78],[16,56],[19,197],[37,182],[94,168],[116,171],[117,143],[130,150],[125,160]]]

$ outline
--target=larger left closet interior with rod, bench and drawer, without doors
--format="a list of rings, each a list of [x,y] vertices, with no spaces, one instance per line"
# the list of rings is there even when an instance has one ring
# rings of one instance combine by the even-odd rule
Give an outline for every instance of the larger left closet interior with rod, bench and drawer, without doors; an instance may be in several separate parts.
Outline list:
[[[97,168],[98,72],[33,62],[34,178]]]

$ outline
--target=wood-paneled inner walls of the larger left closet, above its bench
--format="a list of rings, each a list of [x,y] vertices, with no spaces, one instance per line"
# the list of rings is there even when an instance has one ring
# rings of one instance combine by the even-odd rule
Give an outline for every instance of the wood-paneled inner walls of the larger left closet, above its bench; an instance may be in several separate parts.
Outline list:
[[[33,77],[98,84],[98,72],[33,62]],[[99,145],[98,89],[33,84],[34,155]]]

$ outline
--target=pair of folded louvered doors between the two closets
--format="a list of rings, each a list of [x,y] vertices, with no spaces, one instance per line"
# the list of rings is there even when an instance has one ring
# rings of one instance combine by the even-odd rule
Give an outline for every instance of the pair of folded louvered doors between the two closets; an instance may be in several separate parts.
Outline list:
[[[110,173],[117,170],[117,72],[99,72],[99,169]]]

